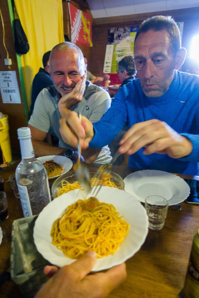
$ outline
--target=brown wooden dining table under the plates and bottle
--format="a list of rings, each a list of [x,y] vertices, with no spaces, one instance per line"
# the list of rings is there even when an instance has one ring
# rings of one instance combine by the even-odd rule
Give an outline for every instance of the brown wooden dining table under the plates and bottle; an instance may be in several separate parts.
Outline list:
[[[16,164],[5,168],[0,175],[7,181],[15,172]],[[93,165],[90,165],[93,167]],[[113,166],[113,171],[125,178],[135,169]],[[199,177],[179,175],[199,180]],[[50,183],[53,180],[49,180]],[[10,183],[4,190],[8,198],[9,218],[0,223],[3,231],[0,245],[0,274],[10,266],[11,228],[13,220],[22,218],[20,199],[13,195]],[[177,298],[183,288],[193,235],[199,228],[199,205],[182,203],[181,211],[168,211],[165,225],[160,231],[149,231],[141,249],[127,264],[127,279],[109,298]],[[1,298],[22,298],[18,286],[11,280],[0,286]],[[56,297],[55,297],[56,298]]]

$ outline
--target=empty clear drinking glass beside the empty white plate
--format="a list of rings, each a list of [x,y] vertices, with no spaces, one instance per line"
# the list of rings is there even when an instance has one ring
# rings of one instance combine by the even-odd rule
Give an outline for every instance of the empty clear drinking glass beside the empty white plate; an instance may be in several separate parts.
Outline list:
[[[168,206],[168,201],[160,195],[150,195],[146,197],[145,209],[151,230],[160,230],[164,227]]]

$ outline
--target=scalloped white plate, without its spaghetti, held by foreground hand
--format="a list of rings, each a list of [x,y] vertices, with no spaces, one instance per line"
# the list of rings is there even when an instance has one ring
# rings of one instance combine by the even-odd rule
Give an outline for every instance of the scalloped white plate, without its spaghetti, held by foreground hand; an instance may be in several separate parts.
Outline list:
[[[79,189],[59,196],[42,210],[35,222],[33,237],[37,250],[50,263],[59,267],[71,264],[75,259],[66,257],[62,250],[52,244],[51,228],[53,223],[66,211],[67,206],[75,203],[78,199],[82,199]],[[97,199],[99,202],[113,204],[119,216],[130,225],[130,228],[123,242],[119,244],[118,250],[114,254],[98,258],[92,271],[111,268],[132,257],[140,249],[148,233],[146,210],[132,195],[117,188],[103,186]],[[90,226],[88,230],[92,230]]]

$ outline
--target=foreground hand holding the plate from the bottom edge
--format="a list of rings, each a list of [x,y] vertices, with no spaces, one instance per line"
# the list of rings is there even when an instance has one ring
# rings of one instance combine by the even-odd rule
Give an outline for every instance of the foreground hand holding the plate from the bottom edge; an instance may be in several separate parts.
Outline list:
[[[46,266],[49,277],[35,298],[104,298],[126,278],[125,264],[117,265],[105,273],[89,274],[96,262],[94,252],[88,252],[71,265],[58,269]]]

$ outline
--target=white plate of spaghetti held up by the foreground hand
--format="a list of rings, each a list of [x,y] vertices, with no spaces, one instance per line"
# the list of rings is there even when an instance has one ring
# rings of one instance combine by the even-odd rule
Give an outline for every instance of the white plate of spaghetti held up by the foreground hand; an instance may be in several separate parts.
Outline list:
[[[39,213],[33,237],[44,259],[59,267],[94,250],[98,258],[92,271],[100,271],[131,258],[147,233],[141,203],[123,190],[102,186],[97,198],[83,199],[76,189],[54,199]]]

